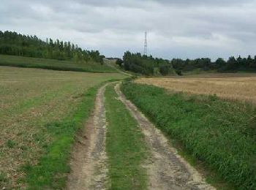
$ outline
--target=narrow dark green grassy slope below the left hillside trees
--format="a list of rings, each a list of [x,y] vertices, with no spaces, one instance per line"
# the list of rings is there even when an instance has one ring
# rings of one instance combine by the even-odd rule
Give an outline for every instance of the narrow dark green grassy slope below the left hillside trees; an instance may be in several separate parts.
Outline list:
[[[0,66],[18,66],[24,68],[40,68],[75,72],[116,72],[116,69],[95,62],[75,63],[75,61],[59,61],[49,58],[30,58],[22,56],[0,55]]]

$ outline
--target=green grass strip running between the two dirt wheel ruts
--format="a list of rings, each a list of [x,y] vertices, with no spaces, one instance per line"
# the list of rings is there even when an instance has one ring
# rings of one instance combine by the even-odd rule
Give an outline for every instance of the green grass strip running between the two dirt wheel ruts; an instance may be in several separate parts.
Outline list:
[[[107,87],[105,97],[110,189],[146,189],[146,171],[141,167],[146,156],[143,134],[113,86]]]

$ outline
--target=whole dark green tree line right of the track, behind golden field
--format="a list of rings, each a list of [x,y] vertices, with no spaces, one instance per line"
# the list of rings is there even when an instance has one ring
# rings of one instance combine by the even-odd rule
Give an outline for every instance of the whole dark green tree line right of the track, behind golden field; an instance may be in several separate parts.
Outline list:
[[[211,58],[181,59],[173,58],[171,61],[162,58],[153,58],[152,56],[142,56],[140,53],[124,53],[123,60],[117,59],[116,64],[123,69],[142,75],[171,75],[173,71],[178,75],[183,72],[189,72],[195,69],[204,71],[214,70],[217,72],[256,72],[256,56],[247,58],[235,58],[231,56],[225,61],[223,58],[217,58],[211,61]]]

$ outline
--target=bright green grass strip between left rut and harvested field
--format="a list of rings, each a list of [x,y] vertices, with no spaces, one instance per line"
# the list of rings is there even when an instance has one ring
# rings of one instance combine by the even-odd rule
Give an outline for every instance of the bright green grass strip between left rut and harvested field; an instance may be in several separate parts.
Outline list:
[[[63,121],[48,123],[45,126],[53,134],[54,141],[46,147],[46,153],[39,159],[37,165],[26,164],[28,189],[62,189],[69,172],[69,156],[75,134],[89,118],[94,107],[97,88],[89,88],[83,96],[75,113]]]

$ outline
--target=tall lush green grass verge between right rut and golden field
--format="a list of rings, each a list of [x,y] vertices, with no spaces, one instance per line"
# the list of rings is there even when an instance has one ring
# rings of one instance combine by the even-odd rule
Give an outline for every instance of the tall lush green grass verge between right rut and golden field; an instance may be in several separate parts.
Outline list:
[[[124,83],[121,90],[190,156],[235,189],[256,189],[254,106],[135,83]]]

